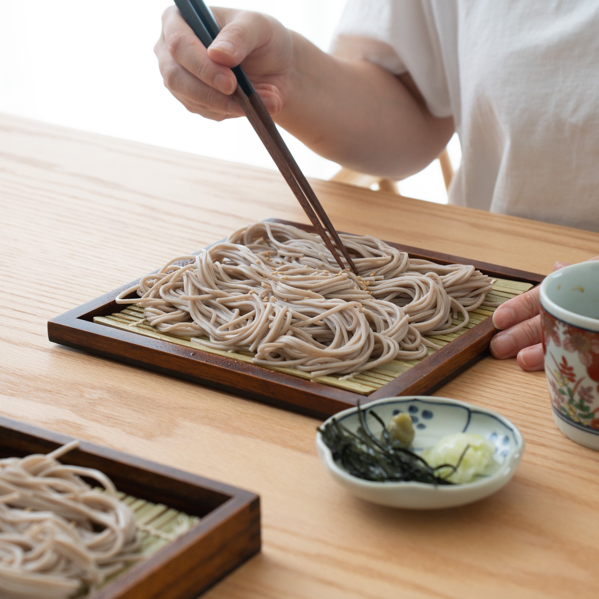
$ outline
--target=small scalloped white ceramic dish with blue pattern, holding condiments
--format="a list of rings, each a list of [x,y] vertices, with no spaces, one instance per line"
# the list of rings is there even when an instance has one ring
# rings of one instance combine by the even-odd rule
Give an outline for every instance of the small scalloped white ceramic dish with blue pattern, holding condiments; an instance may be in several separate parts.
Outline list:
[[[376,408],[376,413],[389,422],[400,412],[412,417],[416,431],[413,448],[420,452],[453,432],[482,435],[495,445],[494,463],[484,476],[462,485],[428,485],[419,482],[379,483],[362,480],[349,474],[333,459],[320,432],[316,434],[316,447],[320,461],[341,486],[354,495],[382,506],[403,507],[412,510],[430,510],[463,506],[499,491],[514,475],[524,452],[521,432],[509,420],[484,408],[470,406],[463,401],[445,397],[391,397],[362,406],[364,410]],[[350,431],[359,426],[358,409],[350,408],[332,416]],[[374,434],[381,426],[373,416],[368,425]]]

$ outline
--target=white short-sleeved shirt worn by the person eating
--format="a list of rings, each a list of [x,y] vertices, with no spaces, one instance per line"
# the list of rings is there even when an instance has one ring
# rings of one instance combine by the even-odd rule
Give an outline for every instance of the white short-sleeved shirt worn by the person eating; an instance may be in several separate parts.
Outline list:
[[[349,0],[332,51],[453,117],[452,204],[599,231],[598,0]]]

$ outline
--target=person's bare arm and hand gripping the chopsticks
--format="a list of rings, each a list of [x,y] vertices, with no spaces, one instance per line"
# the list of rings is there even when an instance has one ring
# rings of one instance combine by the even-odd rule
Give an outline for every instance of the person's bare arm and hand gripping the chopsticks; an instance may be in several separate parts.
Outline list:
[[[208,119],[243,116],[232,93],[241,63],[277,125],[321,156],[394,179],[426,167],[453,134],[426,108],[409,74],[322,52],[273,17],[214,7],[208,50],[176,7],[162,16],[155,53],[165,86]]]

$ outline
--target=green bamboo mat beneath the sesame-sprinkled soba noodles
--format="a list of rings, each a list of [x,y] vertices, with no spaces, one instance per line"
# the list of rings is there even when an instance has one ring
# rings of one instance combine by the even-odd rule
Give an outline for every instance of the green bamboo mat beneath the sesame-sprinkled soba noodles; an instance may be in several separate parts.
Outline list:
[[[531,283],[521,283],[518,281],[510,281],[507,279],[494,279],[493,290],[490,291],[486,299],[492,302],[507,301],[510,298],[516,297],[516,295],[523,294],[528,291],[533,285]],[[463,334],[468,329],[482,322],[489,316],[492,316],[495,308],[481,306],[472,310],[470,314],[470,322],[463,329],[455,333],[449,333],[447,335],[432,335],[426,336],[425,338],[437,344],[438,346],[444,346],[450,343],[453,339]],[[226,356],[227,358],[233,358],[242,362],[252,362],[252,352],[227,352],[219,349],[212,349],[211,347],[202,346],[201,343],[190,341],[189,337],[173,337],[173,335],[165,335],[159,331],[156,331],[153,326],[147,323],[140,323],[143,320],[143,308],[140,308],[137,304],[130,304],[124,310],[111,314],[110,316],[96,316],[93,322],[98,322],[102,325],[113,326],[117,329],[123,329],[124,331],[135,332],[139,335],[146,335],[147,337],[153,337],[155,339],[161,339],[162,341],[171,341],[171,343],[177,343],[186,347],[193,347],[193,349],[201,349],[205,352],[216,353],[219,356]],[[464,318],[459,316],[458,319],[454,319],[453,323],[458,324],[463,322]],[[139,323],[139,324],[138,324]],[[434,349],[428,349],[428,355],[435,352]],[[424,358],[421,358],[424,359]],[[343,379],[341,375],[328,375],[321,377],[310,377],[309,373],[296,370],[295,368],[286,367],[272,367],[271,370],[276,370],[286,374],[294,374],[295,376],[301,377],[302,379],[313,379],[326,385],[332,385],[340,389],[346,389],[346,391],[353,391],[361,395],[369,395],[373,391],[380,389],[382,386],[390,383],[396,377],[400,376],[401,373],[406,372],[409,368],[412,368],[415,364],[418,364],[420,360],[392,360],[387,364],[383,364],[372,370],[355,374],[350,379]]]

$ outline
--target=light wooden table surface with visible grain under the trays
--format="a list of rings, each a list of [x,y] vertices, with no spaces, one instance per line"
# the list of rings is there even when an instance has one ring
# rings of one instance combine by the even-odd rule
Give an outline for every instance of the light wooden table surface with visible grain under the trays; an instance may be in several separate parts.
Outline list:
[[[314,181],[338,229],[549,273],[599,234]],[[485,358],[438,395],[524,434],[515,478],[438,512],[353,498],[316,420],[49,343],[48,319],[255,220],[307,222],[274,171],[0,116],[0,413],[256,491],[264,549],[205,597],[596,597],[599,455],[543,373]]]

